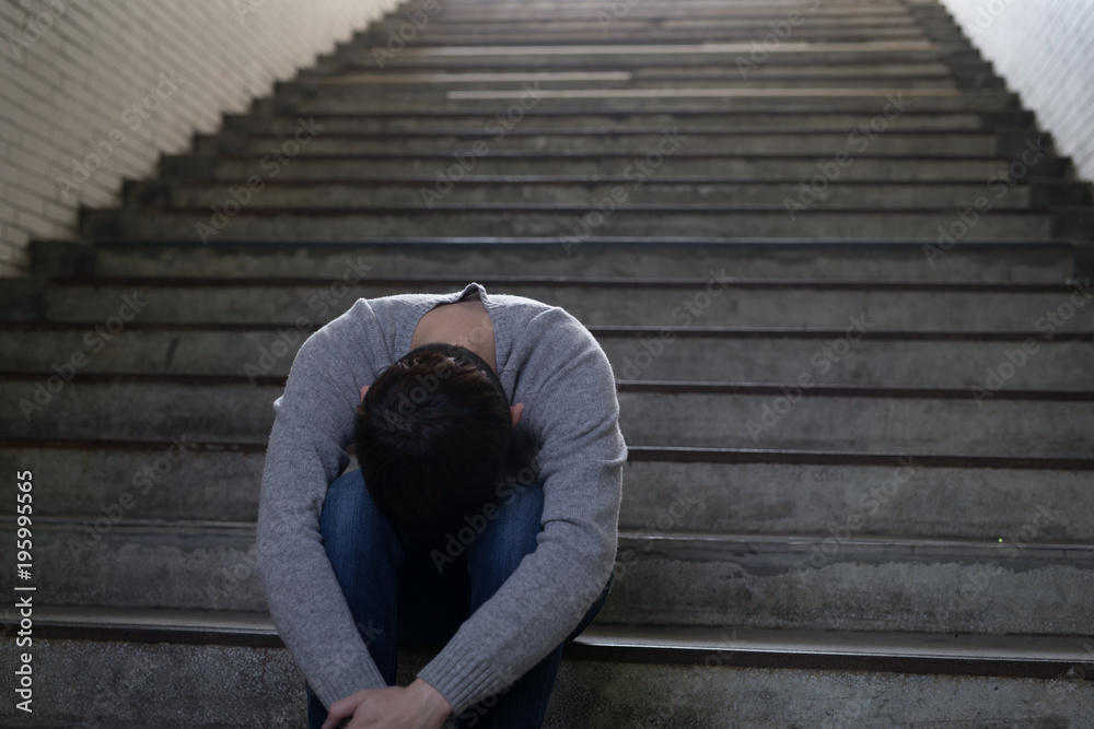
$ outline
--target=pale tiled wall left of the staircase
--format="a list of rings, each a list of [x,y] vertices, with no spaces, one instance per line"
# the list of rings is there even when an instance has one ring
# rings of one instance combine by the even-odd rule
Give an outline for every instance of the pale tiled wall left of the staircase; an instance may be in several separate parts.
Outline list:
[[[395,0],[0,0],[0,275]]]

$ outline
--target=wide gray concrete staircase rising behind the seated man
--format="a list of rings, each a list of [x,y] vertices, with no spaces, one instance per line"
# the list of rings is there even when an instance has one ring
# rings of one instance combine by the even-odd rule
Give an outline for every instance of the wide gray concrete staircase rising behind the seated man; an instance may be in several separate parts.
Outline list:
[[[0,722],[305,726],[270,403],[479,281],[590,327],[631,447],[548,726],[1094,726],[1091,204],[934,0],[411,0],[0,285]]]

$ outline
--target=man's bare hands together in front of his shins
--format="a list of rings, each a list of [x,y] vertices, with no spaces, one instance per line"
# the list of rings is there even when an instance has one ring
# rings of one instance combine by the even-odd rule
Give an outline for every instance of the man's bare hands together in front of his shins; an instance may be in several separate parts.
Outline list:
[[[421,679],[407,687],[366,689],[330,705],[323,729],[440,729],[452,706],[437,689]]]

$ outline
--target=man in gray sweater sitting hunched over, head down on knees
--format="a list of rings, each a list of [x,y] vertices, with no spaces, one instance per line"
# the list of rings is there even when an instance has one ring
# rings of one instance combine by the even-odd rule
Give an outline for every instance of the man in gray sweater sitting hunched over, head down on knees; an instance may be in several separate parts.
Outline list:
[[[540,726],[616,552],[627,448],[589,330],[477,283],[362,298],[274,407],[258,565],[310,727]],[[397,639],[443,645],[406,687]]]

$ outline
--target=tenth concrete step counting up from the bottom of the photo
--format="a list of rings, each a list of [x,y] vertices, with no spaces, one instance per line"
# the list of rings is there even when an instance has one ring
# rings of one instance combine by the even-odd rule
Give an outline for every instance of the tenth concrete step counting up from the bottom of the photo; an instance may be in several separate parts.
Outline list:
[[[664,140],[662,140],[664,142]],[[486,142],[484,142],[486,144]],[[667,144],[667,143],[666,143]],[[524,152],[487,149],[476,155],[468,145],[463,161],[452,153],[416,152],[414,154],[318,155],[303,148],[294,156],[284,156],[279,164],[267,152],[255,156],[166,156],[161,161],[161,175],[179,180],[238,180],[257,177],[258,183],[275,177],[282,180],[354,180],[386,177],[397,180],[403,176],[433,175],[442,181],[458,181],[464,175],[622,175],[631,185],[647,179],[671,176],[720,176],[767,179],[812,179],[824,181],[864,180],[888,178],[892,180],[982,179],[996,185],[1005,184],[1010,162],[998,156],[906,155],[895,154],[851,155],[838,157],[840,150],[827,155],[810,154],[754,154],[730,153],[718,149],[689,146],[687,140],[668,154],[659,150],[642,152]],[[291,149],[291,148],[290,148]],[[837,163],[839,158],[843,164]],[[265,162],[264,162],[265,160]],[[1067,167],[1056,157],[1044,157],[1026,169],[1031,178],[1061,177]],[[264,166],[265,165],[265,166]],[[825,176],[827,171],[828,175]],[[830,179],[829,179],[830,178]],[[968,201],[967,204],[971,204]]]

